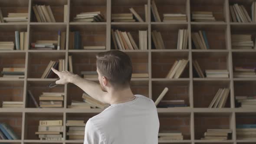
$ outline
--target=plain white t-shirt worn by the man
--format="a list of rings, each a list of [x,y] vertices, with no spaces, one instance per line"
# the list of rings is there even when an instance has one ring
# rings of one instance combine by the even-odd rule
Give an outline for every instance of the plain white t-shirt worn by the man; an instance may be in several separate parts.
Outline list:
[[[135,96],[90,118],[85,125],[84,144],[158,144],[159,119],[154,101]]]

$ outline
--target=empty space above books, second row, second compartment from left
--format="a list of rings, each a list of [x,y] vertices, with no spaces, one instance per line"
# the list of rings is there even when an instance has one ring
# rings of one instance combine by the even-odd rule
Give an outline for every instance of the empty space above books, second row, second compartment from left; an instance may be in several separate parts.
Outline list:
[[[58,41],[58,31],[66,32],[66,25],[64,25],[64,24],[30,25],[29,49],[31,47],[31,43],[36,43],[37,40],[56,40],[56,41]],[[66,47],[66,45],[65,45],[65,47]],[[54,50],[56,50],[56,49],[57,49],[57,47],[55,46]]]

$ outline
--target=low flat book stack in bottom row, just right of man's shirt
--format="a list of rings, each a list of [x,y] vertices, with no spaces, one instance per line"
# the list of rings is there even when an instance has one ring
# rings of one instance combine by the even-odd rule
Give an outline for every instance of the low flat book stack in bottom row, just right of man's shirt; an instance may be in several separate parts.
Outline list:
[[[161,131],[158,140],[183,140],[183,135],[179,131]]]

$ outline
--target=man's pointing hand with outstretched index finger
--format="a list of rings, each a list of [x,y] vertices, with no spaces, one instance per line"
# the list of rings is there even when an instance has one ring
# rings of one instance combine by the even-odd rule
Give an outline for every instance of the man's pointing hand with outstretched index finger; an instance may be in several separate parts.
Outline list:
[[[56,81],[56,84],[61,84],[61,85],[65,85],[69,82],[72,82],[72,79],[79,76],[79,75],[75,75],[69,71],[59,72],[56,69],[54,69],[53,67],[52,67],[52,71],[59,76],[59,80]]]

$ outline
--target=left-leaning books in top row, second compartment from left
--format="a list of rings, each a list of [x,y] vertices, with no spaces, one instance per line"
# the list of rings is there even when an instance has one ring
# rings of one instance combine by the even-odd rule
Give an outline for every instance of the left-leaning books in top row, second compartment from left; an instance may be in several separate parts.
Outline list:
[[[55,23],[56,20],[53,16],[53,12],[50,6],[45,5],[35,5],[33,6],[33,11],[36,15],[37,22],[51,22]]]

